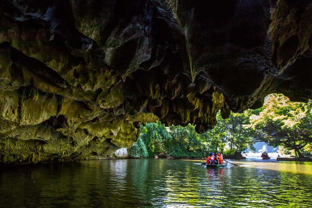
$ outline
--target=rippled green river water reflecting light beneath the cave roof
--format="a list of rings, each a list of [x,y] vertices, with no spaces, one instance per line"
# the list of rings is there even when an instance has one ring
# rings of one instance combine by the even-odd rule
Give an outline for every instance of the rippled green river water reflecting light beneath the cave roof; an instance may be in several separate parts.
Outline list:
[[[90,160],[0,170],[0,207],[312,207],[312,163]]]

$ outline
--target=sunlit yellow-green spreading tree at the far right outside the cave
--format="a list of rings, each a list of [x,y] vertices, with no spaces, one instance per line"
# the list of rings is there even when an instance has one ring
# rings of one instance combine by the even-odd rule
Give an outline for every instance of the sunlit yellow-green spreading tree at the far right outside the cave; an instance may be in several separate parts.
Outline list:
[[[279,94],[267,97],[259,115],[250,117],[256,141],[266,141],[295,150],[296,157],[304,157],[303,148],[312,143],[312,102],[290,102]]]

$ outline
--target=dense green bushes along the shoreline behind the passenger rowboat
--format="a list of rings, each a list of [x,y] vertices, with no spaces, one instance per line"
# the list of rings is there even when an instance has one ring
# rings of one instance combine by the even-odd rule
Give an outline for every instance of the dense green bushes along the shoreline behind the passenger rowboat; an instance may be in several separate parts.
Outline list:
[[[231,151],[224,148],[224,141],[212,134],[215,132],[197,134],[190,124],[165,127],[160,121],[147,123],[141,125],[139,139],[128,149],[129,158],[205,159],[210,152],[217,151],[231,155]],[[245,150],[248,146],[235,148]]]

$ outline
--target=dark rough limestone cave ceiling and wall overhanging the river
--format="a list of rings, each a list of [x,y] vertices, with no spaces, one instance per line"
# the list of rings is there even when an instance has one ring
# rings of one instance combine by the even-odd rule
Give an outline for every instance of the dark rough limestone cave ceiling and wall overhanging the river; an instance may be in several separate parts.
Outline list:
[[[0,0],[0,162],[105,158],[139,126],[213,128],[281,92],[312,97],[298,0]]]

